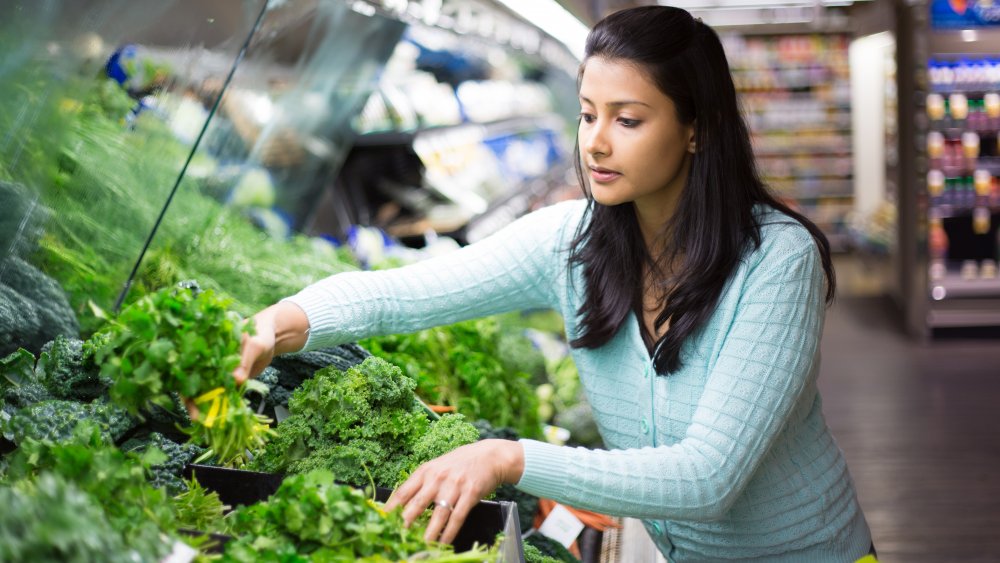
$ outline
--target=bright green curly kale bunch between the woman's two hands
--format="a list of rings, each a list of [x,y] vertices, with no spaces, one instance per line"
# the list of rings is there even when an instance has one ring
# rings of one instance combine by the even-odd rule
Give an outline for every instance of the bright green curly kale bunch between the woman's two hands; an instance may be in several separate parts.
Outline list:
[[[346,372],[320,370],[292,395],[290,416],[251,466],[286,473],[329,469],[344,483],[392,487],[421,463],[478,439],[459,415],[429,421],[415,386],[376,357]]]

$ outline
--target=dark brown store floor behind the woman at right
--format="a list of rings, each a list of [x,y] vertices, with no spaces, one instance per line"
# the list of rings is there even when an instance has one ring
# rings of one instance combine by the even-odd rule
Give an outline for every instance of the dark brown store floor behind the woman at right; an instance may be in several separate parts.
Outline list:
[[[837,270],[823,410],[879,560],[1000,561],[1000,339],[910,340],[870,268]]]

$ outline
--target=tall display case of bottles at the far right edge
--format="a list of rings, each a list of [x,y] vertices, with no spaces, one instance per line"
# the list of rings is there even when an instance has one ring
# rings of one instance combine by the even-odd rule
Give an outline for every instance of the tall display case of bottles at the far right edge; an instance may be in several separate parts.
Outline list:
[[[900,285],[906,326],[1000,326],[1000,29],[992,4],[900,9]],[[905,130],[905,129],[908,129]]]

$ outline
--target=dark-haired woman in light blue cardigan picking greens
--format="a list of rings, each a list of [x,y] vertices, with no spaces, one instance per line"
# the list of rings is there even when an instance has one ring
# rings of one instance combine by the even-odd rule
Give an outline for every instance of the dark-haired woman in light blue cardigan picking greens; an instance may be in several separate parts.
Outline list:
[[[501,483],[641,518],[673,561],[854,561],[871,534],[816,387],[834,294],[822,233],[762,185],[716,34],[644,7],[580,69],[587,198],[453,254],[340,274],[256,315],[237,378],[274,354],[515,308],[566,319],[608,450],[486,440],[421,466],[389,507],[450,541]]]

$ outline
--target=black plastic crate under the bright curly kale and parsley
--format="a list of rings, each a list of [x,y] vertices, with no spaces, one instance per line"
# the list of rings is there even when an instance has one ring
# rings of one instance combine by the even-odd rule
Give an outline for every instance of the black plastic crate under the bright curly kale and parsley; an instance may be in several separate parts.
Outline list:
[[[184,468],[184,476],[195,477],[201,486],[219,495],[223,504],[242,506],[267,499],[274,494],[283,480],[282,475],[259,473],[241,469],[226,469],[211,465],[191,464]],[[388,500],[390,489],[376,488],[375,498],[380,502]],[[472,507],[465,523],[452,542],[455,551],[466,551],[473,544],[493,545],[497,534],[504,534],[498,561],[503,563],[524,563],[524,547],[521,543],[521,526],[517,518],[517,504],[513,502],[479,501]]]

